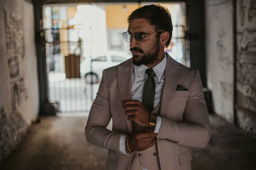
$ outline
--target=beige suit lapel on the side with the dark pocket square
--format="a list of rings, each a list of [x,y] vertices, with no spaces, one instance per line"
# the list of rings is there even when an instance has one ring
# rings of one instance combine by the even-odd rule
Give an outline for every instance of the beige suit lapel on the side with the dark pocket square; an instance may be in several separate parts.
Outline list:
[[[167,55],[167,64],[163,85],[163,95],[161,99],[160,105],[160,116],[164,116],[166,113],[166,109],[169,105],[170,100],[172,99],[172,95],[174,94],[177,85],[178,79],[180,77],[180,63],[175,61],[172,57]]]

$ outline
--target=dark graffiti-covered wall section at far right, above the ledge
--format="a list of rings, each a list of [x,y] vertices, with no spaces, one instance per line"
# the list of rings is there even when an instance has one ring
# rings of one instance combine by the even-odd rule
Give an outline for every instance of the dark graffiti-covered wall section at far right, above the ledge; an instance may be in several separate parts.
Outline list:
[[[256,0],[239,0],[238,6],[248,17],[240,22],[236,35],[237,105],[256,111]]]

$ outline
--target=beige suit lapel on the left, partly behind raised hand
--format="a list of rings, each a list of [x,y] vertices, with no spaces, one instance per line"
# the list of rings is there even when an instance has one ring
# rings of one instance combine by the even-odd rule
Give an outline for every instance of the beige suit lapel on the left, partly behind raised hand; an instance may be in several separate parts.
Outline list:
[[[131,99],[131,80],[133,73],[133,63],[132,60],[122,63],[122,65],[118,65],[117,71],[117,83],[119,87],[120,99],[121,102],[123,100]],[[125,114],[125,109],[123,108],[122,114]],[[127,119],[127,115],[125,115],[125,120],[127,122],[128,128],[132,133],[132,122]]]

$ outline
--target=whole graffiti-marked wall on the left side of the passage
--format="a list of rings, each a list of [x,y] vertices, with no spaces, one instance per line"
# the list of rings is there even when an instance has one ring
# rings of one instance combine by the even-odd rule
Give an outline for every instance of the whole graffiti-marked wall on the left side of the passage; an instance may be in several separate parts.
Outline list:
[[[0,0],[0,161],[38,114],[33,10],[24,0]]]

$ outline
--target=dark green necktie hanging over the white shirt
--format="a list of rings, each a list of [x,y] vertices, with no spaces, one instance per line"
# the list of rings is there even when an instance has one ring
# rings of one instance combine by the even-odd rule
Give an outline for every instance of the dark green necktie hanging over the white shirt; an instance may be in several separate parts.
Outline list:
[[[151,111],[153,111],[154,109],[154,94],[155,94],[155,88],[156,88],[156,84],[154,82],[154,76],[156,74],[154,73],[154,70],[152,68],[148,68],[145,71],[145,73],[148,74],[148,80],[145,83],[142,104],[145,106],[147,111],[151,113]]]

